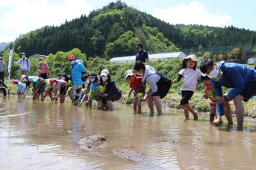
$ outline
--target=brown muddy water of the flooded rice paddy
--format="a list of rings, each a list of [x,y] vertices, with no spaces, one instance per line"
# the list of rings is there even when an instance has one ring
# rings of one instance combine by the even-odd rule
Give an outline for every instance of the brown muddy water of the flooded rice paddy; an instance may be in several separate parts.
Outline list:
[[[207,119],[1,96],[0,169],[255,169],[255,122],[241,132]],[[78,144],[95,135],[104,139]]]

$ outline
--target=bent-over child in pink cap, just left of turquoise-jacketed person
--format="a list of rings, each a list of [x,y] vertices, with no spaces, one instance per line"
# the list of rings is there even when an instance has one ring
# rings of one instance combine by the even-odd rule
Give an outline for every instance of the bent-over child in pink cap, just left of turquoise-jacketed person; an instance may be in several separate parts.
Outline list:
[[[57,100],[58,97],[60,96],[60,103],[63,103],[65,101],[65,94],[67,93],[67,90],[68,90],[68,83],[65,80],[56,80],[54,78],[51,78],[50,85],[52,85],[54,87],[54,97],[53,98],[55,100]],[[61,90],[61,87],[65,87],[65,89]],[[57,94],[57,91],[59,88],[60,88],[60,92],[59,92],[59,94]]]

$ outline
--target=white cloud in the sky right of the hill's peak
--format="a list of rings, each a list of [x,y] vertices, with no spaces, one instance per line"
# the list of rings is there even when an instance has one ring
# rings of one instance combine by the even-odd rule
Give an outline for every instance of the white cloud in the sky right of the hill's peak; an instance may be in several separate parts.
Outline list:
[[[190,4],[154,10],[153,16],[170,24],[202,24],[215,27],[232,25],[229,15],[220,15],[217,12],[209,13],[205,9],[204,4],[197,1],[193,1]]]

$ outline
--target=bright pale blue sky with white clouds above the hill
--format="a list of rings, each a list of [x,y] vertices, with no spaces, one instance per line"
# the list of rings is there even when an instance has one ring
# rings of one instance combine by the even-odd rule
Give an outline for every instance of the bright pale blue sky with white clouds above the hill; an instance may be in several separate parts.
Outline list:
[[[0,43],[14,41],[20,34],[44,25],[60,25],[65,20],[102,8],[109,0],[0,0]],[[202,24],[256,31],[256,1],[124,0],[170,24]],[[245,3],[246,2],[246,3]]]

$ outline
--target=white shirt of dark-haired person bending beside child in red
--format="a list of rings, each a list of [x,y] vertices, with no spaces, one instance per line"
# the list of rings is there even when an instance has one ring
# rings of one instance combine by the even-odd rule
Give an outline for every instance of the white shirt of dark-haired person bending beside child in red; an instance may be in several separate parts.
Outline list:
[[[157,92],[156,83],[160,80],[161,76],[156,74],[156,70],[154,69],[154,67],[148,65],[146,65],[145,67],[146,69],[144,75],[142,76],[142,81],[147,81],[152,89],[152,92]]]

